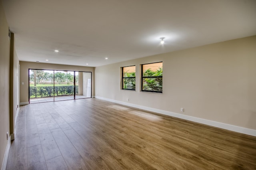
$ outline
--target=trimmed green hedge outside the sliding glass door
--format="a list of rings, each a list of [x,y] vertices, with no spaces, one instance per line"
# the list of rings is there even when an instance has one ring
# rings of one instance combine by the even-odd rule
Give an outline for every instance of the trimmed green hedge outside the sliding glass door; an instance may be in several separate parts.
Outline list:
[[[30,98],[40,98],[40,97],[53,97],[55,96],[68,96],[74,95],[74,85],[65,86],[30,86],[29,87],[29,97]],[[78,86],[76,86],[76,95],[78,95]]]

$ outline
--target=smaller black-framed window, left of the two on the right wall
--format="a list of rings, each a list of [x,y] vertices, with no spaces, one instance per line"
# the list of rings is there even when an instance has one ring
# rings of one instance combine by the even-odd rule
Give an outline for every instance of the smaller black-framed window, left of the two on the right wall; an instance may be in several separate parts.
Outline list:
[[[122,67],[122,89],[135,90],[135,65]]]

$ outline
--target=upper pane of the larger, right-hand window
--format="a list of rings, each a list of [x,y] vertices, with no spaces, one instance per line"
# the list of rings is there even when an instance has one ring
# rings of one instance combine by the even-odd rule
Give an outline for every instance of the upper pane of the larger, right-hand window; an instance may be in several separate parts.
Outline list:
[[[162,76],[163,63],[152,63],[142,65],[143,77]]]

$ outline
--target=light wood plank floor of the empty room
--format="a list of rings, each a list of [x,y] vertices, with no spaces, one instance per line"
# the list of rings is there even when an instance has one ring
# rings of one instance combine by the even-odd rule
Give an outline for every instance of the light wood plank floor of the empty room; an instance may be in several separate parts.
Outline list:
[[[256,169],[256,137],[100,99],[20,107],[7,170]]]

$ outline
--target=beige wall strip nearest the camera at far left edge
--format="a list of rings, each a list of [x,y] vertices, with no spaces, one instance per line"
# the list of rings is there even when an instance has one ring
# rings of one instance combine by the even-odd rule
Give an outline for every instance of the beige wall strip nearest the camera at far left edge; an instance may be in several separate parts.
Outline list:
[[[6,133],[10,134],[10,39],[8,31],[4,9],[0,2],[0,166],[4,161],[8,144]]]

